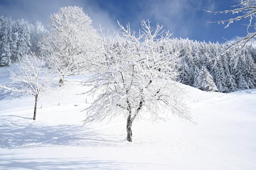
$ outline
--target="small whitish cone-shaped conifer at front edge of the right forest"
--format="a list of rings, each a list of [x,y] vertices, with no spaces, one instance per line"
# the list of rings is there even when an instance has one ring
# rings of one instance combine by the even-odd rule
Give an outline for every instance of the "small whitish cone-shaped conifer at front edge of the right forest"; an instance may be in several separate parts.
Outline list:
[[[199,71],[199,74],[194,82],[194,87],[204,91],[218,91],[218,88],[214,83],[214,78],[212,78],[212,76],[209,74],[206,67],[202,67],[202,69]]]

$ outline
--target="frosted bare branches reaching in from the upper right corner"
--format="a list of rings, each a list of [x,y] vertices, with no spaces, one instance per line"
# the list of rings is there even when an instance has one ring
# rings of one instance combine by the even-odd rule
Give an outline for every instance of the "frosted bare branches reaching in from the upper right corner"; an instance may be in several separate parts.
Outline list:
[[[254,41],[256,37],[256,0],[247,0],[241,1],[239,5],[232,6],[233,9],[231,10],[224,10],[224,11],[207,11],[214,14],[233,14],[234,17],[225,20],[214,21],[213,23],[222,23],[225,24],[225,28],[228,28],[231,23],[234,21],[240,21],[242,19],[248,19],[247,25],[247,35],[245,37],[240,38],[239,40],[231,43],[226,50],[234,45],[245,45],[249,41]],[[226,51],[225,50],[225,51]],[[224,51],[224,52],[225,52]]]

